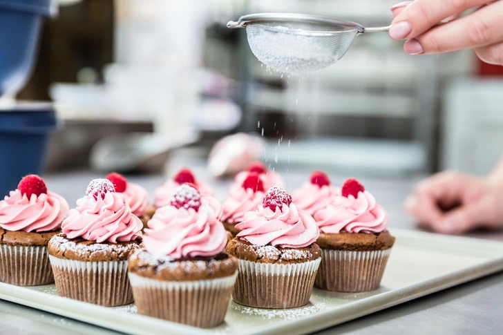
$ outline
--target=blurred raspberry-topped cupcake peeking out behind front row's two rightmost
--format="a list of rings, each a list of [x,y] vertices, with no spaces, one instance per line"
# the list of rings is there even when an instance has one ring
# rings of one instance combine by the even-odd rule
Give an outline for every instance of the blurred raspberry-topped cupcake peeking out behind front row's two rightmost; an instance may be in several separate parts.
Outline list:
[[[298,209],[314,216],[316,211],[330,204],[341,190],[330,184],[328,175],[321,171],[312,173],[310,182],[304,182],[300,189],[292,193],[292,199]]]

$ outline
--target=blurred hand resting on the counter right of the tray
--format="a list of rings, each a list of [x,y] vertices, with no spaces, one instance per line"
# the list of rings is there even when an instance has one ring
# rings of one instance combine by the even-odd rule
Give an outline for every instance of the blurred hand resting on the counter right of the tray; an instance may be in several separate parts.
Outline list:
[[[439,233],[503,227],[503,183],[445,171],[419,182],[404,207],[420,224]]]

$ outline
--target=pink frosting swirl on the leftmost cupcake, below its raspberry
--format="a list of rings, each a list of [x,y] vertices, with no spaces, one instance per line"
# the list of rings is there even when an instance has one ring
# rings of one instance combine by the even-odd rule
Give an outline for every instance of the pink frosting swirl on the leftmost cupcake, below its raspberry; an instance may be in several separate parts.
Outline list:
[[[0,227],[8,231],[53,231],[59,229],[68,213],[68,202],[53,192],[32,194],[10,191],[0,201]]]

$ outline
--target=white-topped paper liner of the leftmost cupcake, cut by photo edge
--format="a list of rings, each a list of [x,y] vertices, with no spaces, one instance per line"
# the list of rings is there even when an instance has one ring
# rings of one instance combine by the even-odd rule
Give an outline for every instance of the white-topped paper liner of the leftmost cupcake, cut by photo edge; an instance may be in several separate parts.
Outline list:
[[[0,245],[0,281],[17,286],[54,283],[47,247]]]

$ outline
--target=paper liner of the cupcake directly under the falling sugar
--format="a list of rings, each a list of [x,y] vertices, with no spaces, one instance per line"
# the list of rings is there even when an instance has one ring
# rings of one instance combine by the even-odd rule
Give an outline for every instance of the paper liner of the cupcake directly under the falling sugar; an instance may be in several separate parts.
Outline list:
[[[239,260],[232,298],[260,308],[292,308],[309,303],[321,258],[302,263],[267,264]]]

